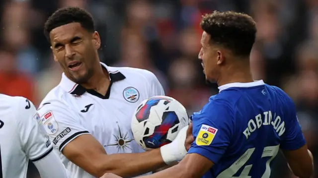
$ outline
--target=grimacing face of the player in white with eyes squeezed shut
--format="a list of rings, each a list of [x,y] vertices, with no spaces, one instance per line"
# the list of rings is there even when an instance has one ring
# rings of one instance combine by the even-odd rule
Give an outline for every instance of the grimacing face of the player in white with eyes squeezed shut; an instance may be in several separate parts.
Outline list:
[[[60,63],[66,76],[76,83],[86,83],[94,66],[99,65],[98,33],[89,33],[79,23],[69,23],[53,29],[50,39],[54,60]]]

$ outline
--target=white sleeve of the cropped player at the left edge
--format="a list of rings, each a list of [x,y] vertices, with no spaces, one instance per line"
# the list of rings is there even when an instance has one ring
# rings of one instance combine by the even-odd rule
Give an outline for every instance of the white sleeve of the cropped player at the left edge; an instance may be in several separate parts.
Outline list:
[[[52,143],[44,131],[34,105],[27,99],[19,102],[16,113],[22,148],[38,168],[42,178],[68,178],[62,161],[52,151]],[[40,164],[43,164],[40,166]]]

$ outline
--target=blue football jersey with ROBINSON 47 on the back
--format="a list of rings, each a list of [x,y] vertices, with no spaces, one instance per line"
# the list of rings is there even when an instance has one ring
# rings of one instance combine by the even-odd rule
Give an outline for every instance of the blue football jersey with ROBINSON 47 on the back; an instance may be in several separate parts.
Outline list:
[[[295,105],[280,88],[260,80],[219,89],[191,117],[195,141],[188,154],[214,163],[203,178],[269,178],[280,148],[305,145]]]

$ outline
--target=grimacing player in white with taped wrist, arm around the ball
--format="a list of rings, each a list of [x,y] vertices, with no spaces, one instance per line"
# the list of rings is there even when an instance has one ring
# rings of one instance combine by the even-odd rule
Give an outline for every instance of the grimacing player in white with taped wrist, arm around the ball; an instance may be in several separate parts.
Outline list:
[[[105,173],[134,177],[185,156],[186,128],[160,149],[144,152],[136,143],[130,128],[134,110],[164,91],[148,70],[100,62],[100,38],[88,12],[59,9],[45,23],[44,32],[64,73],[38,112],[72,178]]]

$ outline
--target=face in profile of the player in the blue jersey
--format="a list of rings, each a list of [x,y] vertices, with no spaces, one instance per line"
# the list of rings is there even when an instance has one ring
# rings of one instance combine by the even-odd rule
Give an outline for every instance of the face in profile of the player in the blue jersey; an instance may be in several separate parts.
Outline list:
[[[199,59],[202,60],[203,72],[206,80],[209,82],[215,82],[218,74],[217,67],[217,50],[210,43],[210,35],[203,32],[201,38],[202,48],[199,53]]]

